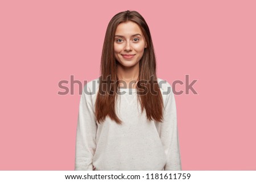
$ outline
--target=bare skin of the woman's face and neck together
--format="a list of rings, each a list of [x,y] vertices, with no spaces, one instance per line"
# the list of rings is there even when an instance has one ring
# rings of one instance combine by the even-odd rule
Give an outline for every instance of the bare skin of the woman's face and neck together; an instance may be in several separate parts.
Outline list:
[[[137,23],[128,21],[117,26],[114,37],[114,55],[118,61],[117,76],[125,81],[129,88],[130,82],[134,83],[131,88],[135,88],[135,81],[138,82],[139,61],[143,56],[144,48],[147,48],[147,43]],[[133,57],[125,56],[127,54]]]

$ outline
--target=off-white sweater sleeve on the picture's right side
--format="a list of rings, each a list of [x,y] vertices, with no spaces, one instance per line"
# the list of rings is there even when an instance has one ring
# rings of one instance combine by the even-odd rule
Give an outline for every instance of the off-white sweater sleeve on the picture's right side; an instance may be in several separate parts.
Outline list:
[[[168,84],[168,87],[170,93],[167,92],[164,120],[163,123],[160,124],[160,139],[162,140],[164,151],[167,155],[167,163],[166,166],[164,166],[164,170],[180,171],[181,159],[177,130],[176,103],[170,84]]]

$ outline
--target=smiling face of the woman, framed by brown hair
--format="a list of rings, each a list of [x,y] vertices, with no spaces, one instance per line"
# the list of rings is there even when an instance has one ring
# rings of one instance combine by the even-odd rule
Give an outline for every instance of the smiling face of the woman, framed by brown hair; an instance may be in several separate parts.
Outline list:
[[[146,41],[137,23],[128,21],[117,26],[114,37],[114,55],[119,64],[125,67],[139,64],[146,47]]]

